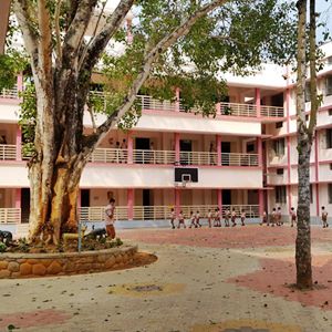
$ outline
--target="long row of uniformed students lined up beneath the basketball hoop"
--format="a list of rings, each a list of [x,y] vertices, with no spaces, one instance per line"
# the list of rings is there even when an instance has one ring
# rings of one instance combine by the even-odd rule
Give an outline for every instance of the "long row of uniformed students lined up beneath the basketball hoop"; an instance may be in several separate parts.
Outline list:
[[[212,226],[214,227],[221,227],[221,214],[220,214],[219,208],[216,208],[215,211],[209,209],[206,217],[207,217],[207,220],[208,220],[209,228],[211,228]],[[245,210],[241,210],[240,216],[238,216],[235,208],[232,209],[232,211],[230,211],[230,209],[227,208],[225,210],[225,215],[224,215],[225,227],[230,226],[229,221],[231,221],[232,227],[237,226],[237,218],[238,217],[240,217],[241,226],[246,226],[246,224],[245,224],[245,221],[246,221],[246,211]],[[180,210],[178,216],[176,217],[176,212],[175,212],[174,208],[172,208],[169,219],[170,219],[170,225],[172,225],[173,229],[175,229],[176,227],[180,228],[181,226],[184,226],[184,228],[187,227],[186,221],[185,221],[186,216],[185,216],[183,210]],[[175,225],[176,220],[178,221],[177,226]],[[196,212],[190,211],[189,228],[193,228],[193,227],[200,228],[201,224],[199,221],[200,221],[199,210],[197,210]]]

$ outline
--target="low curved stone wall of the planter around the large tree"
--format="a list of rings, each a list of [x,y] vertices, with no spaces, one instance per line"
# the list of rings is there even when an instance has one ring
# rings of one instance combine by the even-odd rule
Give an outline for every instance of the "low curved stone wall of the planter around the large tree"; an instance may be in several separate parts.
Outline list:
[[[59,253],[0,253],[0,279],[64,276],[120,269],[134,260],[137,247]]]

